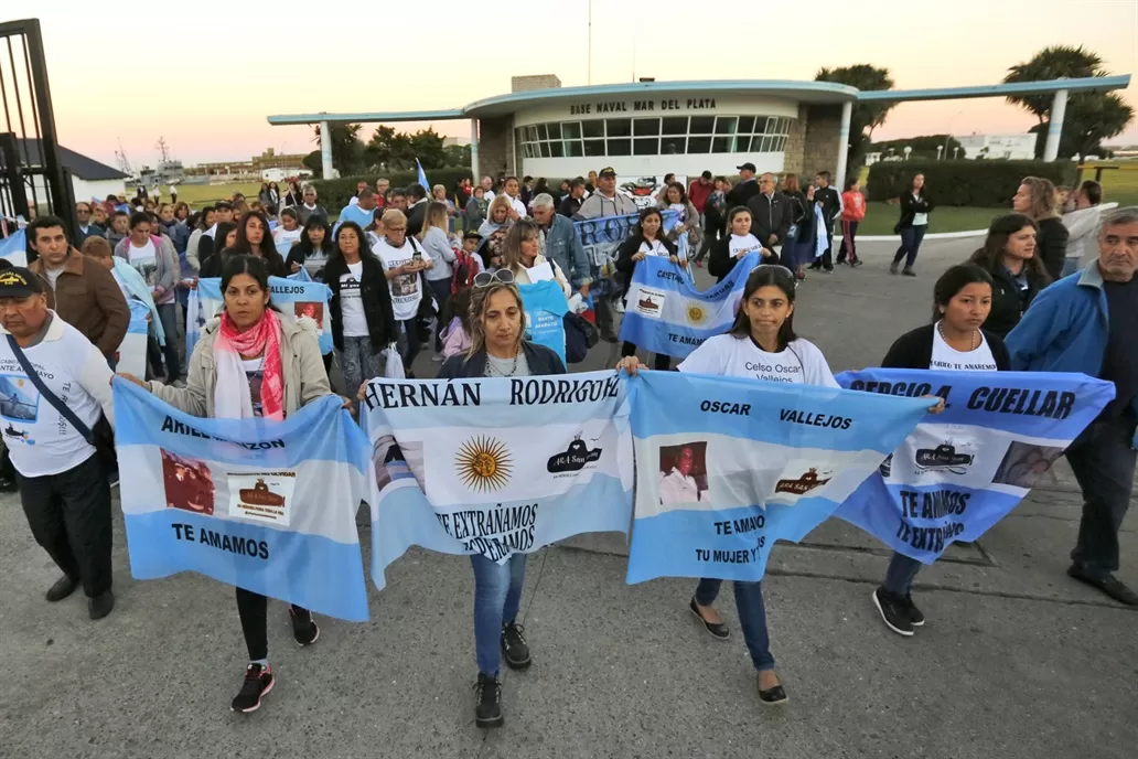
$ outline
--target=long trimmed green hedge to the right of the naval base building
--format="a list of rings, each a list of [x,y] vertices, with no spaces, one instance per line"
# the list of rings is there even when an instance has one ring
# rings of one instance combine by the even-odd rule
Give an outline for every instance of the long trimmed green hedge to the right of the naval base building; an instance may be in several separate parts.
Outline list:
[[[1078,179],[1070,160],[888,160],[869,166],[867,197],[896,198],[918,173],[925,175],[929,196],[937,205],[987,208],[1009,208],[1024,176],[1049,179],[1056,187],[1071,187]]]

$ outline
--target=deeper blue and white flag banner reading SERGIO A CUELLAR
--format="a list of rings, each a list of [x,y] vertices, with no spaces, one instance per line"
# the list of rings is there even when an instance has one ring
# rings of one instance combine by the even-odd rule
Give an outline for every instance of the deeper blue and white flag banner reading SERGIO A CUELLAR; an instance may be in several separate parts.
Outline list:
[[[836,379],[945,398],[836,512],[926,564],[1012,511],[1114,397],[1112,382],[1086,374],[866,369]]]

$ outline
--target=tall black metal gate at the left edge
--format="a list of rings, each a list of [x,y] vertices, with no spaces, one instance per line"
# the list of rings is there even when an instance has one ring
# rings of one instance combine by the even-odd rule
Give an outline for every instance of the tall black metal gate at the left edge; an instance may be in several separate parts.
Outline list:
[[[74,231],[71,178],[59,163],[40,22],[0,24],[0,216],[53,214]]]

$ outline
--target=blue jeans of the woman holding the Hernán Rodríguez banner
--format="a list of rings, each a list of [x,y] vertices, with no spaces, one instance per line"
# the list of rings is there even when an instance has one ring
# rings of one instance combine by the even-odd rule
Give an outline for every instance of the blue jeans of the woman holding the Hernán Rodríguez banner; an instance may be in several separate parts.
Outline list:
[[[502,626],[518,617],[526,581],[526,554],[516,553],[497,564],[471,554],[475,570],[475,655],[478,671],[497,677],[502,661]]]

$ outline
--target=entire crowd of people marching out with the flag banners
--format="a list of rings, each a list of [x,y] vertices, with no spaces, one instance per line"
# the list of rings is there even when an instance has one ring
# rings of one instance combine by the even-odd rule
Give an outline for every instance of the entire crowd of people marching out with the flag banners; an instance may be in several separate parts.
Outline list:
[[[710,172],[687,187],[666,182],[646,208],[619,192],[616,172],[604,167],[556,190],[504,175],[483,178],[477,187],[464,181],[451,193],[418,183],[394,188],[382,179],[374,188],[360,182],[335,218],[313,185],[292,182],[283,192],[265,184],[255,200],[236,195],[198,209],[141,196],[127,208],[117,198],[109,206],[80,203],[71,237],[61,220],[35,218],[26,228],[30,265],[0,262],[0,324],[8,337],[0,341],[0,362],[17,372],[22,366],[44,403],[38,416],[30,414],[27,389],[9,386],[0,404],[6,455],[32,535],[63,572],[47,600],[60,601],[81,586],[92,619],[114,607],[110,380],[135,308],[149,315],[150,349],[147,376],[129,380],[192,415],[281,420],[332,394],[335,373],[332,356],[320,354],[314,324],[273,308],[270,277],[303,272],[328,284],[343,378],[337,389],[354,398],[370,379],[390,374],[387,362],[399,362],[399,372],[413,377],[423,349],[435,354],[439,377],[564,373],[555,353],[526,339],[519,284],[553,280],[567,300],[587,299],[601,279],[615,278],[609,295],[593,298],[601,335],[615,343],[619,284],[648,256],[694,267],[707,259],[709,273],[721,279],[758,253],[766,265],[748,274],[729,332],[707,340],[677,369],[749,377],[745,366],[785,363],[780,356],[790,353],[803,368],[792,381],[836,387],[823,352],[794,332],[795,292],[810,270],[861,264],[855,238],[866,204],[859,184],[850,180],[839,192],[819,172],[805,189],[787,174],[780,189],[773,174],[757,176],[752,164],[739,171],[735,184]],[[1014,213],[996,218],[971,259],[937,280],[931,322],[900,336],[882,365],[1066,371],[1113,381],[1115,401],[1067,452],[1085,500],[1069,574],[1138,605],[1138,594],[1114,577],[1138,422],[1138,345],[1129,330],[1138,320],[1138,208],[1099,217],[1100,201],[1095,182],[1061,198],[1050,182],[1024,179]],[[898,205],[901,245],[890,270],[915,275],[935,208],[923,175],[912,179]],[[668,231],[663,212],[678,220]],[[637,223],[608,274],[585,255],[572,221],[628,214],[637,214]],[[842,234],[836,255],[835,223]],[[686,246],[677,245],[681,239]],[[182,355],[187,302],[206,277],[220,278],[223,307],[209,315],[191,354]],[[618,368],[644,369],[635,353],[635,345],[621,346]],[[669,356],[655,356],[653,369],[670,368]],[[939,399],[930,406],[933,413],[943,407]],[[501,659],[513,668],[531,661],[517,620],[525,555],[504,564],[473,556],[472,563],[476,719],[495,726],[502,724]],[[885,625],[901,635],[924,624],[912,599],[918,569],[915,560],[894,555],[873,593]],[[725,640],[729,630],[714,605],[720,585],[701,580],[690,609],[710,635]],[[784,702],[760,584],[734,586],[759,699]],[[258,708],[273,686],[266,603],[237,589],[249,652],[231,704],[237,711]],[[315,643],[312,614],[290,607],[289,616],[297,643]]]

